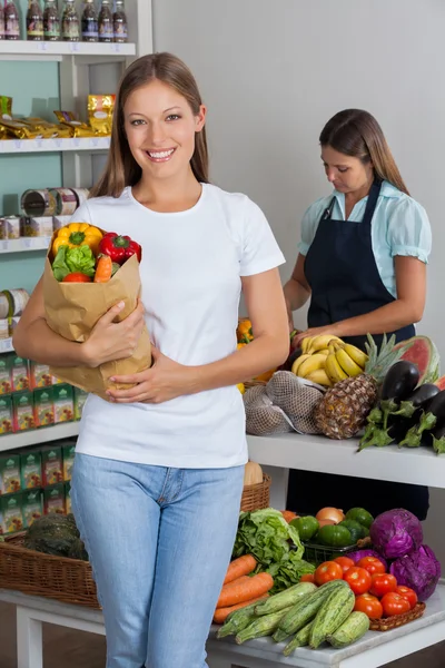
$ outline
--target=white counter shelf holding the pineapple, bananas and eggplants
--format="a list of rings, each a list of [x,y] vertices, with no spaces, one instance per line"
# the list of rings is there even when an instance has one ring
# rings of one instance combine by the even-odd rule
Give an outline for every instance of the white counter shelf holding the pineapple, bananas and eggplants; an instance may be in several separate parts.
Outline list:
[[[445,489],[445,455],[427,448],[388,445],[357,452],[357,439],[305,434],[247,436],[247,441],[249,458],[259,464]]]

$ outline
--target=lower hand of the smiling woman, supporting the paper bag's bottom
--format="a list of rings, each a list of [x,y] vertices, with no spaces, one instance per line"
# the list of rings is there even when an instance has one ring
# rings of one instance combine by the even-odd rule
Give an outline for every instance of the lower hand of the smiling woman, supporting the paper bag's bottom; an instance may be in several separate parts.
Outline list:
[[[116,383],[136,383],[129,390],[108,390],[116,403],[161,403],[194,391],[194,367],[179,364],[152,347],[154,365],[132,375],[112,376]]]

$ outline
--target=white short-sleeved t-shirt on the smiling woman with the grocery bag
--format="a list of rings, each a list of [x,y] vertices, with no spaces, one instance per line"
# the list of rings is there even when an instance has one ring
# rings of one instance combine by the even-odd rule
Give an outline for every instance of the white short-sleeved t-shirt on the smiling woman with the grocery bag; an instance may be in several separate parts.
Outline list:
[[[141,244],[141,298],[150,338],[186,365],[216,362],[236,350],[240,277],[285,262],[258,206],[246,195],[207,184],[186,212],[152,212],[127,187],[119,198],[89,199],[72,220]],[[77,451],[179,469],[227,468],[247,461],[245,431],[236,386],[160,404],[116,404],[90,394]]]

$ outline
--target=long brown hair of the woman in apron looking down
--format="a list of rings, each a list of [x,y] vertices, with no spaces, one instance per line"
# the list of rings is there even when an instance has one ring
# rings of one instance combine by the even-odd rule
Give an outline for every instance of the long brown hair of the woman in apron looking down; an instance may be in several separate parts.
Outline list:
[[[362,109],[339,111],[323,128],[319,143],[346,156],[359,158],[364,165],[372,161],[376,176],[409,195],[385,135],[368,111]]]

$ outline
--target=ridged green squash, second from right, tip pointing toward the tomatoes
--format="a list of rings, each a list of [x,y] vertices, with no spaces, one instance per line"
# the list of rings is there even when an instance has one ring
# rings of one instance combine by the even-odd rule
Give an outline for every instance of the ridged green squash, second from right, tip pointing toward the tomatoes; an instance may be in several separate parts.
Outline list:
[[[354,606],[355,596],[348,586],[332,591],[317,611],[310,629],[310,647],[317,649],[327,636],[332,636],[349,617]]]

